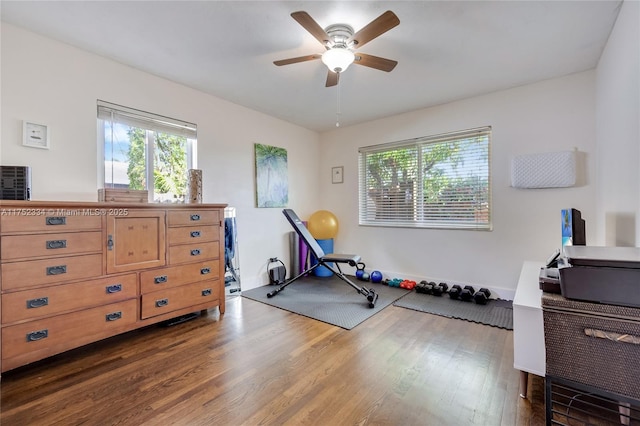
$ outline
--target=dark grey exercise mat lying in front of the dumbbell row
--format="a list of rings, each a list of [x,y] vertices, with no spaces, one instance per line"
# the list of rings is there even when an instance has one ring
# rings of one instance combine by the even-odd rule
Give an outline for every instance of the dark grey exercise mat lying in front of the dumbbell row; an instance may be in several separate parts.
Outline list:
[[[513,330],[513,303],[511,300],[489,299],[486,305],[478,305],[475,302],[451,299],[446,294],[438,297],[412,292],[397,300],[393,305]]]

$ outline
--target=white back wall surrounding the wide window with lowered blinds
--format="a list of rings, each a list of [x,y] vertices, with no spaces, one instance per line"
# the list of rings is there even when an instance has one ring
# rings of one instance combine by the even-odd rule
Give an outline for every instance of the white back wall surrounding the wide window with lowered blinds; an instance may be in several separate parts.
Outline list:
[[[486,125],[493,128],[493,231],[358,226],[358,147]],[[560,247],[561,209],[581,210],[587,240],[594,239],[594,71],[337,129],[322,134],[321,143],[322,208],[340,221],[335,251],[361,254],[369,270],[485,286],[509,297],[524,260],[543,261]],[[509,186],[514,155],[574,148],[584,166],[578,186]],[[340,165],[344,184],[331,184],[331,167]]]

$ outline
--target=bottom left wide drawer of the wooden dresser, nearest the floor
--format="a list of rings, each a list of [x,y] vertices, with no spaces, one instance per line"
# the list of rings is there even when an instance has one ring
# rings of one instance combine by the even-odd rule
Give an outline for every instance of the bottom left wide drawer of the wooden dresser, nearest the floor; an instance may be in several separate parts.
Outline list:
[[[136,317],[137,299],[130,299],[4,327],[2,369],[6,371],[127,331]]]

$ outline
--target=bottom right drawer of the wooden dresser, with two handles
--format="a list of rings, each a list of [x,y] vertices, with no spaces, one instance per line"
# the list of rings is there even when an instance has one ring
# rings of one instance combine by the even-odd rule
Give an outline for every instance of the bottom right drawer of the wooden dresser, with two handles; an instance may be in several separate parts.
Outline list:
[[[141,318],[151,318],[200,303],[216,302],[219,285],[220,280],[209,280],[143,294]]]

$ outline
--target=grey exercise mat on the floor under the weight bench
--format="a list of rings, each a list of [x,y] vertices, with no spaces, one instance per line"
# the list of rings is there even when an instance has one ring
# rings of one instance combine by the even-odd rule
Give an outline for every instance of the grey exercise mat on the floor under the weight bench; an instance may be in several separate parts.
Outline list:
[[[242,291],[242,297],[350,330],[408,293],[401,288],[355,281],[355,278],[354,283],[378,293],[374,308],[369,308],[365,296],[335,276],[300,278],[272,298],[267,297],[267,293],[276,288],[271,285]]]

